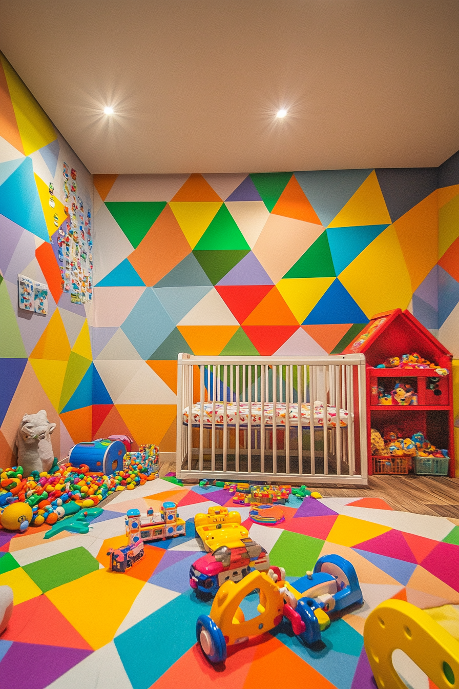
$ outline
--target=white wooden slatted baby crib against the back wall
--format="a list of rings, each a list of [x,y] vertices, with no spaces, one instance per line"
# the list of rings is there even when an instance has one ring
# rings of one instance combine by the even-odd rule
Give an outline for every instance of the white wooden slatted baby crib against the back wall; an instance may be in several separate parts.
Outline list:
[[[179,354],[177,476],[367,484],[365,357]]]

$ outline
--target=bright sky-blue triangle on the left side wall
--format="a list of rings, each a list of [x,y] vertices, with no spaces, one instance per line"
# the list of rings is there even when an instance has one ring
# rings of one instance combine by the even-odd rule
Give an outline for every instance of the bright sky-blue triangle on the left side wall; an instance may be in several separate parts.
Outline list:
[[[0,214],[50,243],[31,158],[25,158],[1,185]]]

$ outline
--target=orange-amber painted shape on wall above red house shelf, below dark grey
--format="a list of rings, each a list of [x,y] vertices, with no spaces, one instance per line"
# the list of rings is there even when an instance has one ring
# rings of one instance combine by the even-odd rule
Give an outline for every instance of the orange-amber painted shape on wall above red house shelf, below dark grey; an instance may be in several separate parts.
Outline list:
[[[394,223],[411,278],[413,292],[418,289],[420,283],[437,263],[437,201],[437,192],[432,192]]]

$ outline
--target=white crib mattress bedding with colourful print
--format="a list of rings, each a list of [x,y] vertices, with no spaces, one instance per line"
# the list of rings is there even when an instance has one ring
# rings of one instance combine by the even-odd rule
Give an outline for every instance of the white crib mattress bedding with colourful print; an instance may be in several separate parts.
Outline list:
[[[277,426],[286,425],[287,407],[285,402],[277,402],[275,405],[275,416]],[[251,426],[261,426],[261,402],[252,402],[252,409],[250,414]],[[290,426],[298,426],[298,404],[295,402],[289,404],[288,409]],[[301,426],[309,427],[311,424],[310,404],[301,404]],[[323,426],[323,404],[319,401],[314,402],[314,427]],[[204,402],[203,425],[206,428],[212,426],[213,422],[213,402]],[[248,427],[249,404],[248,402],[239,402],[239,428]],[[274,404],[273,402],[264,402],[264,424],[265,426],[272,426],[274,418]],[[201,419],[201,403],[197,402],[191,407],[191,425],[199,426]],[[235,426],[237,421],[237,404],[236,402],[226,402],[226,424],[228,426]],[[189,407],[183,411],[183,423],[188,425],[189,422]],[[223,426],[224,424],[224,404],[223,402],[215,402],[215,425]],[[327,406],[327,426],[336,427],[337,425],[337,410],[335,407]],[[339,425],[348,425],[348,411],[339,409]]]

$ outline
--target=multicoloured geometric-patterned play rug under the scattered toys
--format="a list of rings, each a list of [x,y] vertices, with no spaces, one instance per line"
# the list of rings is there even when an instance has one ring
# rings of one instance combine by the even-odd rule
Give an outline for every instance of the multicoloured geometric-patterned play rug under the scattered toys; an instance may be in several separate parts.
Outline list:
[[[127,573],[111,572],[107,551],[127,544],[127,510],[157,511],[167,500],[178,504],[186,536],[146,545]],[[193,517],[210,506],[237,509],[292,584],[320,555],[342,555],[359,577],[363,606],[332,621],[319,650],[284,620],[228,647],[225,663],[212,666],[195,636],[211,601],[189,585],[189,568],[203,554]],[[46,525],[24,535],[0,531],[0,585],[14,590],[0,637],[0,689],[374,689],[365,619],[389,598],[419,608],[459,604],[457,520],[393,511],[366,497],[290,496],[283,509],[281,524],[253,524],[249,508],[233,507],[224,489],[158,479],[119,493],[86,535],[63,531],[45,540]],[[433,686],[421,681],[421,689]]]

